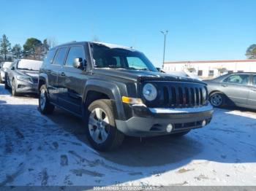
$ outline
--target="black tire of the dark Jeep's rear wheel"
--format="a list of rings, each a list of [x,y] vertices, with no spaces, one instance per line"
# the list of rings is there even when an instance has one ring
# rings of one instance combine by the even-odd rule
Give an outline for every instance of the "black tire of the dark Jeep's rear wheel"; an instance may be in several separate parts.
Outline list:
[[[45,97],[42,97],[42,96],[45,96]],[[42,98],[45,98],[44,104],[42,104]],[[55,106],[53,106],[53,104],[50,104],[50,101],[48,98],[48,91],[47,91],[47,88],[45,85],[42,85],[40,87],[38,102],[39,102],[38,103],[39,104],[39,112],[41,112],[42,114],[50,114],[55,109]]]

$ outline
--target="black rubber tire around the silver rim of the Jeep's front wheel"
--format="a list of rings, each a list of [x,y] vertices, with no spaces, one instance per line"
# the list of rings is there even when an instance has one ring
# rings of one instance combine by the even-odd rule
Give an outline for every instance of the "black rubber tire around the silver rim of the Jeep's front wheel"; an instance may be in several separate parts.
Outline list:
[[[97,109],[100,109],[102,111],[102,113],[105,114],[105,117],[108,117],[108,123],[105,123],[105,125],[103,125],[105,128],[101,127],[101,130],[99,130],[100,129],[99,123],[97,123],[98,125],[90,125],[90,123],[89,123],[89,117],[92,116],[94,114],[94,111],[97,111]],[[116,128],[115,118],[113,116],[113,106],[112,106],[110,100],[100,99],[100,100],[92,102],[89,105],[88,111],[86,112],[85,115],[86,115],[86,120],[85,120],[86,121],[86,136],[87,136],[91,146],[94,147],[94,149],[97,149],[99,151],[110,151],[110,150],[114,150],[114,149],[117,149],[118,147],[120,147],[120,145],[124,141],[124,134],[121,133]],[[97,114],[95,112],[95,116],[96,115]],[[97,122],[102,121],[102,120],[95,119],[95,118],[93,118],[93,119],[96,120]],[[107,134],[108,134],[105,141],[103,139],[102,139],[102,142],[94,141],[94,139],[91,136],[91,133],[95,133],[96,130],[91,130],[90,127],[96,128],[99,130],[99,133],[97,136],[98,139],[100,138],[100,136],[102,137],[101,132],[103,130],[105,130],[105,132],[107,132]]]

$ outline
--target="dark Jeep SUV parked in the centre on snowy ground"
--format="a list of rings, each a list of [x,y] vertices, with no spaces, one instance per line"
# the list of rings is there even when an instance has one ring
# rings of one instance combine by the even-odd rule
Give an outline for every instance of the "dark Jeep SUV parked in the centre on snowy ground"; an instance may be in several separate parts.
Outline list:
[[[39,71],[39,110],[65,109],[85,122],[95,149],[127,136],[183,136],[211,121],[206,83],[160,73],[142,52],[72,42],[48,52]]]

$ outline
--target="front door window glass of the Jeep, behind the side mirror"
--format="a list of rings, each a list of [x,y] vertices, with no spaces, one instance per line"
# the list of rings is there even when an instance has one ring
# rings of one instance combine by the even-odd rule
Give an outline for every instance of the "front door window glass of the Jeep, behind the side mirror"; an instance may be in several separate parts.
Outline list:
[[[66,66],[73,66],[73,62],[75,58],[83,58],[83,60],[86,59],[85,52],[83,47],[77,46],[77,47],[70,47],[69,54],[67,55],[67,61]]]

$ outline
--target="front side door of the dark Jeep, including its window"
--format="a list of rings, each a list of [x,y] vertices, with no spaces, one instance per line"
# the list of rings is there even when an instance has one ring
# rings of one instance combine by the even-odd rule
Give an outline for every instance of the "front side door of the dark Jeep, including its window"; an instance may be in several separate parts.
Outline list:
[[[67,61],[58,79],[59,87],[61,87],[59,104],[71,112],[81,114],[82,93],[86,84],[87,72],[84,71],[84,67],[78,69],[73,66],[75,58],[82,58],[83,64],[86,63],[85,47],[74,45],[69,48]]]

